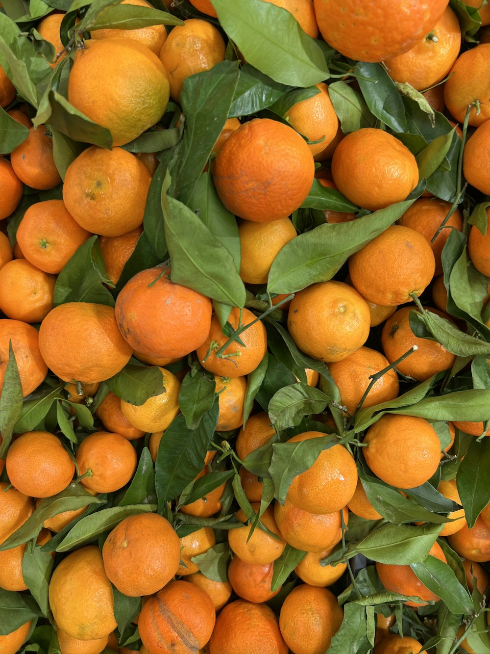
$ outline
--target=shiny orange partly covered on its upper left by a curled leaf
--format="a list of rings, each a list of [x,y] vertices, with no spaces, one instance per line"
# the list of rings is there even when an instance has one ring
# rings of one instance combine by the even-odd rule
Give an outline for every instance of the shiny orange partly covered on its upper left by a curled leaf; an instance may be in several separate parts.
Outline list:
[[[304,432],[287,443],[323,436],[321,432]],[[356,485],[357,468],[353,456],[343,445],[333,445],[319,453],[311,468],[293,479],[287,499],[309,513],[333,513],[346,506]]]

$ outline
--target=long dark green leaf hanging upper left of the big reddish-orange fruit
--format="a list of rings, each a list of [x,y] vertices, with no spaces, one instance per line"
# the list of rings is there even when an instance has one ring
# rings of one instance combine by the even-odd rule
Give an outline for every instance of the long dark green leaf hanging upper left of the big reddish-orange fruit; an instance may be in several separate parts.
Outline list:
[[[169,194],[185,205],[225,126],[237,82],[238,61],[220,61],[212,69],[186,78],[182,84],[180,104],[186,128],[182,148],[172,166]]]

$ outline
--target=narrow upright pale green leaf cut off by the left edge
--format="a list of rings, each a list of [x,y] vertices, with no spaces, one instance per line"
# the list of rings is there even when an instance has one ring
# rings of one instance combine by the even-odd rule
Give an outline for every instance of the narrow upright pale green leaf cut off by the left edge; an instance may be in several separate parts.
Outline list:
[[[14,426],[22,414],[23,402],[22,385],[10,339],[8,341],[8,361],[0,392],[0,458],[5,458],[10,441],[12,441]]]

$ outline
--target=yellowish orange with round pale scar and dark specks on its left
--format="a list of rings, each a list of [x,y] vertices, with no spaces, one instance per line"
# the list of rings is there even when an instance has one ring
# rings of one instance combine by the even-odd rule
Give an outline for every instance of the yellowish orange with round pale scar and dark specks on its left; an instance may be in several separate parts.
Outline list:
[[[359,349],[369,335],[370,313],[357,290],[343,282],[311,284],[289,305],[287,328],[306,354],[327,363]]]

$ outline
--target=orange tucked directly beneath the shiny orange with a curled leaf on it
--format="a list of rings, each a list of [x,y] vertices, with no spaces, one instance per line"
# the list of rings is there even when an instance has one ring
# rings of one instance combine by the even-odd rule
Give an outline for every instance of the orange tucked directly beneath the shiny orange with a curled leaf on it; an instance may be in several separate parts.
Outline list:
[[[349,513],[342,509],[344,524]],[[340,511],[333,513],[309,513],[299,509],[286,498],[284,506],[276,502],[274,517],[280,532],[289,545],[305,552],[322,552],[331,549],[342,540],[342,519]]]

